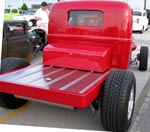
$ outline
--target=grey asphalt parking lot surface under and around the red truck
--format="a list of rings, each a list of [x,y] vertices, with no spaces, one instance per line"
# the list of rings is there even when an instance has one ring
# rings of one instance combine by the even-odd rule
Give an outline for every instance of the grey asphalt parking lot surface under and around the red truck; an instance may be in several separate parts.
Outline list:
[[[142,45],[148,46],[150,49],[150,31],[143,34],[134,33],[133,36],[138,45],[134,54],[139,52]],[[41,62],[41,56],[41,53],[37,54],[32,63]],[[150,64],[146,72],[139,71],[137,65],[131,65],[130,70],[135,74],[137,91],[133,123],[129,132],[148,132],[150,129],[150,112],[148,111],[150,108],[150,94],[148,94],[150,89]],[[71,107],[37,101],[30,101],[27,105],[17,110],[0,108],[0,123],[81,130],[104,130],[100,121],[100,112],[93,114],[90,107],[74,111]]]

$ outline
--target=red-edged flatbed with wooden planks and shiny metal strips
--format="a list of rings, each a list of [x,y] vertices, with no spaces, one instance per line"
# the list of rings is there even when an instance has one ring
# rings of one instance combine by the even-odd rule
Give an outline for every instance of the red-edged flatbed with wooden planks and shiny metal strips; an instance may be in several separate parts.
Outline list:
[[[99,94],[105,73],[36,64],[0,76],[0,91],[23,97],[87,107]]]

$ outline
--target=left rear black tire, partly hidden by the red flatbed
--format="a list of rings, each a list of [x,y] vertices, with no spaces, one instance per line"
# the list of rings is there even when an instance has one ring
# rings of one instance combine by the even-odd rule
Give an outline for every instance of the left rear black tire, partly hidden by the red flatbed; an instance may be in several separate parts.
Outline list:
[[[28,66],[29,62],[22,58],[8,57],[1,62],[1,73],[9,72]],[[13,94],[0,92],[0,106],[7,109],[16,109],[27,103],[27,100],[16,98]]]

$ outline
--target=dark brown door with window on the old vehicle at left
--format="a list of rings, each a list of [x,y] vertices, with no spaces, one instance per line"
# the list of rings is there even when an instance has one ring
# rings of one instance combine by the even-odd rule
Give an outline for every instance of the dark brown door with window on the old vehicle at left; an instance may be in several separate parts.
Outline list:
[[[32,46],[27,41],[27,22],[11,21],[7,23],[8,56],[27,58],[32,54]]]

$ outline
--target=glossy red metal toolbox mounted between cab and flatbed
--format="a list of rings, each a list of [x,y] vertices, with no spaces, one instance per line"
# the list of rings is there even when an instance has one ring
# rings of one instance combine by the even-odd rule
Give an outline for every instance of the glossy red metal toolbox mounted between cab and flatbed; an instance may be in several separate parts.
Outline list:
[[[88,50],[86,50],[89,48]],[[110,48],[86,46],[86,49],[59,48],[52,45],[44,49],[44,64],[104,72],[110,68]]]

